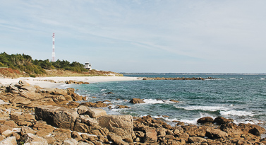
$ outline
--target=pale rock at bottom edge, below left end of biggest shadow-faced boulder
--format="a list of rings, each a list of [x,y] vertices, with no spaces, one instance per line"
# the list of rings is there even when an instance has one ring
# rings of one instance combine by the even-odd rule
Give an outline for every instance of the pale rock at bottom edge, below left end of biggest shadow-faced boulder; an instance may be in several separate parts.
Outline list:
[[[35,134],[25,134],[24,136],[25,139],[25,144],[24,145],[48,145],[47,140],[42,138],[42,137],[38,137]]]

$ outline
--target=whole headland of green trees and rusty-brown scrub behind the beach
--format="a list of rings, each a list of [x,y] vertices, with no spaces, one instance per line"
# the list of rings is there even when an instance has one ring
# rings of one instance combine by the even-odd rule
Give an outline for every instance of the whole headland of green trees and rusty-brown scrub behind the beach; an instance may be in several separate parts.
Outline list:
[[[33,60],[26,54],[0,54],[0,74],[6,77],[20,76],[105,76],[110,74],[119,75],[111,71],[88,71],[79,62],[57,60]]]

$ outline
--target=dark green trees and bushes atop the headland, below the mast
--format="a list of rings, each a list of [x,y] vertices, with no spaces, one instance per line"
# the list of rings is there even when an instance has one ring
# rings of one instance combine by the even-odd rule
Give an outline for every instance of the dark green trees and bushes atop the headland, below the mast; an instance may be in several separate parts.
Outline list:
[[[17,69],[24,71],[27,74],[47,74],[44,69],[61,69],[75,72],[88,71],[84,68],[83,64],[79,62],[68,62],[67,60],[57,60],[56,62],[50,62],[46,60],[33,60],[30,55],[26,54],[7,54],[2,52],[0,54],[0,67],[8,67],[11,69]]]

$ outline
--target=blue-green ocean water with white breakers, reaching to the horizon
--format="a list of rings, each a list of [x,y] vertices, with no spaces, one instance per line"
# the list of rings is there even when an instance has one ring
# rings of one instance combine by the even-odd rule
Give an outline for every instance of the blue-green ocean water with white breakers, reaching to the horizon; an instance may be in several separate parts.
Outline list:
[[[115,81],[71,85],[88,101],[110,100],[129,109],[104,108],[114,115],[151,115],[172,124],[177,120],[196,124],[200,117],[226,117],[235,123],[260,124],[266,127],[265,75],[124,75],[138,77],[212,77],[205,81],[150,80]],[[107,94],[112,92],[112,94]],[[93,98],[95,97],[95,98]],[[132,98],[144,99],[143,104],[131,104]],[[169,101],[178,100],[179,103]]]

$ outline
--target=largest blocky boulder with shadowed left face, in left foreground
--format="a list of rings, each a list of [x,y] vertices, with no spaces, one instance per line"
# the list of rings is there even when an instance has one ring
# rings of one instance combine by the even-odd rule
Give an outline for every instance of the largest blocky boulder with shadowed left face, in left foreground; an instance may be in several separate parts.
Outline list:
[[[54,127],[73,130],[75,119],[79,116],[75,110],[47,105],[35,108],[37,120],[44,120]]]

